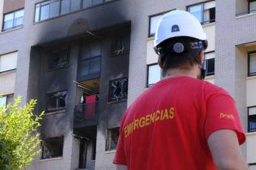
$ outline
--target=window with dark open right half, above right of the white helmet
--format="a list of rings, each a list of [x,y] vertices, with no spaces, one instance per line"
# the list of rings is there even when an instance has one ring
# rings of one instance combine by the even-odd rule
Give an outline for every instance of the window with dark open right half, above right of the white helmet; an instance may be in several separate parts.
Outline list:
[[[215,22],[215,1],[190,6],[187,9],[201,24]]]

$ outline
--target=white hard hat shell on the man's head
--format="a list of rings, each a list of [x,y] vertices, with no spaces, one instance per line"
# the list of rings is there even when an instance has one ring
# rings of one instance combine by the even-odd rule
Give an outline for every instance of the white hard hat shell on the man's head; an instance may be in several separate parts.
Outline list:
[[[164,40],[179,36],[188,36],[207,42],[207,36],[194,15],[184,10],[173,10],[164,14],[158,22],[153,48],[156,51],[157,46]]]

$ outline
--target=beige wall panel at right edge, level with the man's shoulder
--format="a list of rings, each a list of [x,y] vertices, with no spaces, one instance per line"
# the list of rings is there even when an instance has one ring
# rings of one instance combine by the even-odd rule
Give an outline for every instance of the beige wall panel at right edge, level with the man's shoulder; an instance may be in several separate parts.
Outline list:
[[[247,107],[256,105],[256,76],[248,77],[246,80],[246,105]],[[255,143],[256,144],[256,143]]]

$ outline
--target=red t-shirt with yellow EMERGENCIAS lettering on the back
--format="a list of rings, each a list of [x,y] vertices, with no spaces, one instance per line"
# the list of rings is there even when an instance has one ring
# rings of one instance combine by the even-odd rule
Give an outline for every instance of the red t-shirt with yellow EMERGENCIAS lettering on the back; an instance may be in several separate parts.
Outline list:
[[[126,110],[114,163],[128,169],[216,169],[207,145],[218,129],[245,134],[233,98],[200,79],[163,79]]]

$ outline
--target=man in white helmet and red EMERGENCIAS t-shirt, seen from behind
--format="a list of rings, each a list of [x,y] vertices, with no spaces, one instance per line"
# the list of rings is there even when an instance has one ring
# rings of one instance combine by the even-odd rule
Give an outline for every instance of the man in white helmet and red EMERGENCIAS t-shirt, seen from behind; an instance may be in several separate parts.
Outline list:
[[[201,80],[206,48],[197,18],[181,10],[163,15],[154,41],[163,79],[124,113],[117,169],[248,169],[234,99]]]

